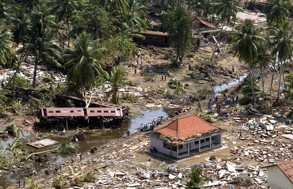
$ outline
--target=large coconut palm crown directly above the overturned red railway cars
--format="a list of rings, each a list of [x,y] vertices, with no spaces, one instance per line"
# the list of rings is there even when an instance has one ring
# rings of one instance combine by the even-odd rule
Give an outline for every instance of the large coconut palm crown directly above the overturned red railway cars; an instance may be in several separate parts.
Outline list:
[[[76,35],[72,44],[73,48],[65,48],[63,55],[64,60],[69,60],[64,64],[64,67],[70,67],[67,80],[74,80],[82,86],[87,80],[94,80],[99,75],[107,76],[105,64],[97,59],[105,49],[98,49],[97,41],[90,34],[82,32]]]

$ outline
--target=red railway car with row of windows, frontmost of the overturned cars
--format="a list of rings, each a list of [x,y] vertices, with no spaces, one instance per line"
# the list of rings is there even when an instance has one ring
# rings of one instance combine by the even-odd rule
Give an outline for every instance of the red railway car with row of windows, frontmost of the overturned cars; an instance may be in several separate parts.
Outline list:
[[[107,127],[120,125],[122,108],[42,108],[39,110],[40,124],[52,126]]]

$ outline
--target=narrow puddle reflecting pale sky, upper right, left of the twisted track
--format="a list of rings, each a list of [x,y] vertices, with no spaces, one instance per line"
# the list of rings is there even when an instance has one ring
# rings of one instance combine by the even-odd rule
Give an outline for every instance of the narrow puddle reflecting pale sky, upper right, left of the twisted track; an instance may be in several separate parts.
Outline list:
[[[222,95],[222,93],[218,93],[218,91],[224,91],[225,89],[229,89],[229,88],[233,87],[234,85],[237,85],[240,81],[243,81],[246,77],[247,77],[247,74],[244,73],[243,76],[240,76],[240,79],[235,79],[235,80],[230,81],[229,83],[217,85],[217,86],[214,86],[213,88],[210,88],[210,89],[197,90],[196,93],[198,96],[207,96],[207,95],[209,97],[212,97],[214,95],[219,96],[219,95]]]

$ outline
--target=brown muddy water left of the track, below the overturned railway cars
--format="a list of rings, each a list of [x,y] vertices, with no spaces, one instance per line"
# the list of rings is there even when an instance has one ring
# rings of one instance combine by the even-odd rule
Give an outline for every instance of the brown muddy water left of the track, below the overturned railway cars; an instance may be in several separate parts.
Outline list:
[[[124,123],[121,127],[113,129],[112,133],[110,134],[109,131],[101,131],[91,135],[86,135],[85,140],[80,140],[76,142],[79,145],[78,151],[76,154],[87,152],[88,150],[92,149],[93,147],[99,148],[102,145],[108,144],[115,139],[123,138],[123,135],[126,135],[127,130],[130,130],[130,133],[136,132],[137,128],[139,128],[140,124],[147,124],[150,123],[154,117],[156,116],[167,116],[168,115],[168,108],[162,108],[157,111],[142,111],[139,115],[130,114],[131,120],[129,123]],[[63,142],[67,142],[71,140],[71,137],[74,135],[75,130],[69,130],[69,133],[65,133],[64,136],[59,135],[49,135],[45,138],[55,140],[59,142],[59,144],[43,147],[40,149],[36,149],[34,147],[30,147],[26,145],[28,142],[33,142],[36,139],[31,133],[26,132],[25,130],[21,130],[20,136],[23,136],[27,139],[27,141],[23,142],[23,148],[28,150],[32,149],[33,152],[42,152],[46,150],[51,150],[57,148]],[[7,147],[8,143],[12,143],[13,139],[5,139],[0,140],[0,146],[3,146],[4,149]],[[1,155],[11,154],[11,151],[6,149],[3,150]],[[18,179],[21,179],[21,183],[23,183],[23,176],[22,173],[24,171],[18,170],[18,166],[25,166],[25,167],[34,167],[37,171],[44,171],[45,168],[51,166],[54,167],[53,164],[58,164],[65,160],[70,160],[71,157],[76,157],[76,154],[50,154],[48,158],[50,160],[42,161],[41,163],[34,162],[34,161],[27,161],[27,164],[20,164],[18,161],[11,160],[12,164],[16,166],[16,169],[13,173],[9,173],[9,171],[0,170],[0,186],[5,187],[10,183],[17,183]],[[8,167],[10,169],[10,167]]]

